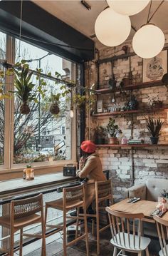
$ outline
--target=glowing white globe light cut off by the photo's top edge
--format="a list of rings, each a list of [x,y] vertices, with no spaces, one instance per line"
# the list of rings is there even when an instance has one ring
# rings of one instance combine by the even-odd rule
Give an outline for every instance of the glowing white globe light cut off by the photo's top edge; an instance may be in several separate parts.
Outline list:
[[[145,9],[150,0],[106,0],[110,6],[118,14],[134,15]]]

